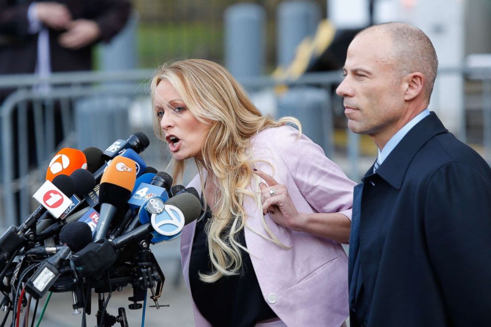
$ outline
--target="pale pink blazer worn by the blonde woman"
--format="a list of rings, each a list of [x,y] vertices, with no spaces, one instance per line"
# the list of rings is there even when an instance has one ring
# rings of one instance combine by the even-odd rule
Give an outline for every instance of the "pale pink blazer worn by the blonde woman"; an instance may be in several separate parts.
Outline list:
[[[322,148],[289,126],[271,128],[252,139],[252,155],[271,164],[255,167],[288,187],[299,212],[339,212],[351,219],[354,182],[325,155]],[[259,193],[258,179],[250,189]],[[201,192],[199,176],[189,184]],[[267,235],[257,200],[247,197],[245,241],[266,303],[287,326],[339,327],[348,316],[347,256],[340,243],[266,224],[285,245],[284,249],[259,234]],[[189,286],[189,259],[196,222],[181,235],[181,261]],[[210,326],[193,302],[196,326]]]

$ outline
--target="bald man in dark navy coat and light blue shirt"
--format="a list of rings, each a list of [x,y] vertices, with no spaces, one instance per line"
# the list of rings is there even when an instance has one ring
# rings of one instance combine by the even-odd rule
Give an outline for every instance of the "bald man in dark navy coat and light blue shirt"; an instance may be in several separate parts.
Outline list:
[[[379,149],[354,190],[351,327],[491,326],[491,169],[428,111],[437,68],[429,38],[403,23],[347,51],[348,127]]]

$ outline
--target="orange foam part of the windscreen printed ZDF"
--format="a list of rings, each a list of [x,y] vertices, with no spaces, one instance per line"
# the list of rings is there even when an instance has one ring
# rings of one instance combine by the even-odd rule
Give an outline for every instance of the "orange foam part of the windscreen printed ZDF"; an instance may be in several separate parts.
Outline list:
[[[137,174],[135,161],[122,156],[117,156],[112,159],[109,166],[107,166],[102,178],[100,179],[100,184],[114,184],[124,187],[131,192],[135,186],[136,178]]]

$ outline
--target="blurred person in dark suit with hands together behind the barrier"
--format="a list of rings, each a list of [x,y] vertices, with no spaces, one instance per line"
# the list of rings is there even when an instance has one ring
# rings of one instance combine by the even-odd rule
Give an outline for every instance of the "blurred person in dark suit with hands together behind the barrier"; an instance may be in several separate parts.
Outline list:
[[[0,0],[0,74],[91,70],[92,47],[126,24],[128,0]]]

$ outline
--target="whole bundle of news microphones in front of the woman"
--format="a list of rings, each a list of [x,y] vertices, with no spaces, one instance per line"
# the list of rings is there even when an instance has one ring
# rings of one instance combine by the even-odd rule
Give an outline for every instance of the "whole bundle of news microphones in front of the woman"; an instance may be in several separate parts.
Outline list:
[[[131,284],[130,309],[141,308],[150,289],[159,307],[164,276],[149,245],[179,237],[201,204],[196,189],[172,186],[167,173],[147,167],[139,153],[148,144],[138,132],[103,152],[56,153],[33,195],[40,206],[0,237],[1,305],[5,318],[12,311],[12,324],[26,306],[26,292],[39,299],[48,291],[71,291],[74,313],[83,309],[84,322],[93,288],[100,295]],[[99,302],[98,326],[126,320],[124,309],[114,317],[105,311],[107,301]]]

